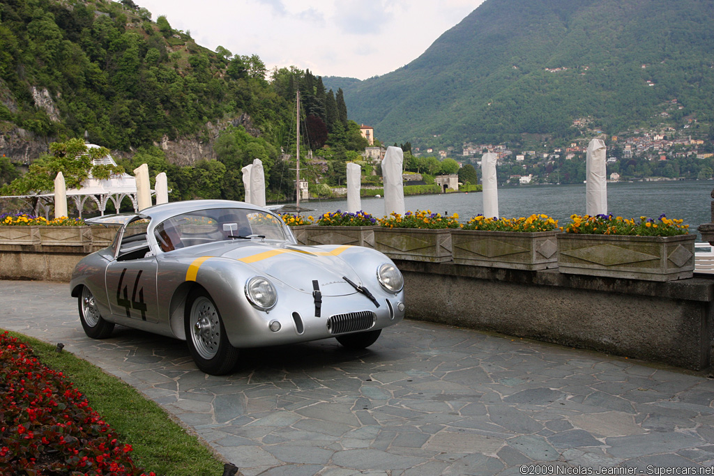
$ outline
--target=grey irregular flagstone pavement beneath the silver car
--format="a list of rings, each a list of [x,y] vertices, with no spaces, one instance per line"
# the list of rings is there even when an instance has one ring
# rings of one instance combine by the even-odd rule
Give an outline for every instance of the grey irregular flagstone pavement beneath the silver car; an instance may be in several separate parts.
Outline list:
[[[405,320],[367,350],[246,350],[213,377],[178,340],[87,338],[66,283],[0,281],[0,296],[0,328],[64,343],[243,475],[714,474],[705,374]]]

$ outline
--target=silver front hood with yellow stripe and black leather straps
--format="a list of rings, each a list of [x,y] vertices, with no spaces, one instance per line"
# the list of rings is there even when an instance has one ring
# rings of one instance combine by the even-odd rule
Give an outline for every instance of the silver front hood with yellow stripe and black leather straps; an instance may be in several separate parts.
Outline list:
[[[313,280],[316,280],[322,295],[339,296],[356,293],[343,277],[362,284],[356,271],[339,256],[346,248],[251,243],[226,250],[222,256],[241,261],[256,273],[268,275],[303,293],[312,293]]]

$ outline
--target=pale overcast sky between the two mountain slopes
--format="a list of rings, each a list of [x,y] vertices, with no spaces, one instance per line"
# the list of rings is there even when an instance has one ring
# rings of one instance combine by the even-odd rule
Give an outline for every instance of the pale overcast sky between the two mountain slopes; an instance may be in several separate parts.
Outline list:
[[[135,0],[196,43],[268,70],[367,79],[408,64],[483,0]]]

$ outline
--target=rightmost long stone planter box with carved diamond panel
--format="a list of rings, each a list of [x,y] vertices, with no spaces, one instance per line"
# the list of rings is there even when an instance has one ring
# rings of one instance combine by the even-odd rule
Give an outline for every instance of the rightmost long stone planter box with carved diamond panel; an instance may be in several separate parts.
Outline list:
[[[694,275],[696,235],[612,236],[560,233],[560,273],[650,281]]]

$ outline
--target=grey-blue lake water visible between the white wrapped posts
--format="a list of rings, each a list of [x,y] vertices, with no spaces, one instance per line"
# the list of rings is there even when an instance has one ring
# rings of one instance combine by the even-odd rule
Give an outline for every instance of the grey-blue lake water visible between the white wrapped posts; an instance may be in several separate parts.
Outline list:
[[[695,233],[700,224],[711,221],[713,188],[714,181],[608,183],[608,208],[624,218],[658,218],[664,213],[668,218],[681,218],[690,226],[690,233]],[[483,213],[480,192],[407,196],[404,202],[407,210],[458,213],[461,221]],[[300,203],[315,208],[304,214],[312,216],[347,207],[346,200]],[[362,198],[362,208],[379,218],[385,215],[383,198]],[[545,213],[563,226],[573,213],[585,214],[585,184],[498,188],[498,212],[503,218]]]

